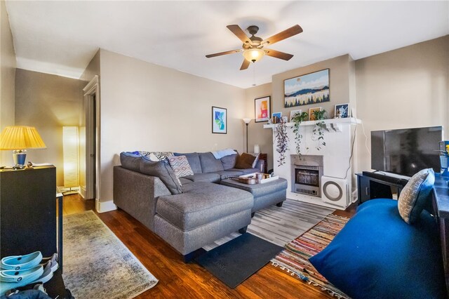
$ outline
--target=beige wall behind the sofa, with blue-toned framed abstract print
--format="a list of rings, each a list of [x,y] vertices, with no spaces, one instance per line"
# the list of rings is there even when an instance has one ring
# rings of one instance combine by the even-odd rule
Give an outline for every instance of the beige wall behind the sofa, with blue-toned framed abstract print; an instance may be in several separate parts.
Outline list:
[[[120,152],[243,150],[243,89],[105,50],[100,69],[100,201]],[[227,108],[227,134],[212,133],[212,106]]]

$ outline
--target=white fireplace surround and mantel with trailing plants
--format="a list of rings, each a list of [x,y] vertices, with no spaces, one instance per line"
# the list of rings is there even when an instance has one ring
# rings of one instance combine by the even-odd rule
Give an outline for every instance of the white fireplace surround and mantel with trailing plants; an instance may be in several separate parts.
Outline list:
[[[356,159],[354,156],[351,159],[351,147],[354,140],[354,128],[356,124],[361,124],[360,119],[346,118],[346,119],[325,119],[323,120],[326,128],[323,129],[323,138],[326,146],[321,146],[318,150],[316,147],[318,142],[312,139],[313,128],[317,121],[303,121],[300,124],[300,131],[302,133],[302,140],[300,145],[301,154],[308,155],[322,155],[323,156],[323,175],[336,179],[344,179],[346,177],[349,190],[353,190],[354,169],[356,169]],[[274,173],[281,178],[286,178],[288,181],[287,198],[298,201],[305,201],[310,204],[317,204],[320,206],[327,206],[331,208],[344,209],[346,206],[335,206],[323,201],[322,197],[311,197],[305,194],[297,194],[292,192],[292,173],[291,173],[291,154],[297,154],[295,145],[295,133],[293,133],[293,123],[287,123],[288,134],[288,151],[286,152],[285,164],[279,166],[279,152],[276,151],[276,136],[274,128],[278,124],[266,124],[264,128],[272,128],[273,130],[273,161]],[[355,145],[354,145],[355,146]],[[356,148],[354,148],[354,153]],[[354,186],[355,189],[355,186]],[[349,201],[354,201],[353,192],[349,192]],[[349,205],[348,204],[348,205]]]

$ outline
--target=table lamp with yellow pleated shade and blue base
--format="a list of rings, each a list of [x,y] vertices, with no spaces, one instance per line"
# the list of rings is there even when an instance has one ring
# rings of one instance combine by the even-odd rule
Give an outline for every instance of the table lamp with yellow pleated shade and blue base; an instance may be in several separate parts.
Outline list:
[[[44,149],[45,143],[33,126],[7,126],[0,135],[0,150],[12,150],[15,167],[24,168],[27,149]]]

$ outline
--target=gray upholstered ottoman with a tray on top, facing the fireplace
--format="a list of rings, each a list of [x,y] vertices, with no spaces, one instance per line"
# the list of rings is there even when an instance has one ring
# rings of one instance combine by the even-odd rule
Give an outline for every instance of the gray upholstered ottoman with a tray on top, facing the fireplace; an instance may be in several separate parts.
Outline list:
[[[267,208],[267,206],[271,206],[272,204],[282,206],[283,201],[287,198],[287,180],[283,178],[265,182],[264,184],[254,185],[243,184],[236,180],[227,179],[222,180],[220,184],[245,190],[253,194],[254,205],[251,210],[251,217],[254,215],[255,211],[258,211],[261,208]]]

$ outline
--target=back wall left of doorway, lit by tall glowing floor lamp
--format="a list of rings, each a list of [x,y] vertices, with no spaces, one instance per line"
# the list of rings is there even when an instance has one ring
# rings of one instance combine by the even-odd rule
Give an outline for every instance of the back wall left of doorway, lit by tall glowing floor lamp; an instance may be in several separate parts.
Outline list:
[[[84,82],[17,69],[15,124],[35,126],[47,148],[28,150],[27,161],[56,166],[56,183],[64,185],[62,126],[79,126]]]

